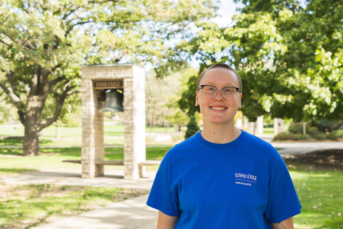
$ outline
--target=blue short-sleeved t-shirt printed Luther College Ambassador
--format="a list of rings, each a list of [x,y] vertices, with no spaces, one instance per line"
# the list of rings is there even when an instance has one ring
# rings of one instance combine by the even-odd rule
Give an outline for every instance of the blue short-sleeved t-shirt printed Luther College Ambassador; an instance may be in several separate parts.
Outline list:
[[[179,216],[175,228],[272,228],[300,213],[287,167],[269,143],[242,131],[227,144],[200,132],[162,160],[147,205]]]

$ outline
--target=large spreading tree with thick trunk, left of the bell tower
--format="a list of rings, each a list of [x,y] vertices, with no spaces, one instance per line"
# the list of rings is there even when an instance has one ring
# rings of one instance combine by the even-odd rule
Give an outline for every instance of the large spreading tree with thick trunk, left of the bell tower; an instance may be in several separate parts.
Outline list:
[[[185,66],[166,43],[215,10],[210,0],[1,1],[0,87],[25,127],[23,155],[38,155],[39,131],[80,92],[81,64],[150,61],[163,76]]]

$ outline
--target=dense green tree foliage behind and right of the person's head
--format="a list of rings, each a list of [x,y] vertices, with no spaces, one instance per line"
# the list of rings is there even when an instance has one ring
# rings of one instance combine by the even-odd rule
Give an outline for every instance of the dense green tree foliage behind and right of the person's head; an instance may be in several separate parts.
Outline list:
[[[250,121],[265,113],[294,121],[343,119],[343,5],[337,0],[237,0],[234,26],[203,30],[179,48],[205,69],[236,68],[243,82],[242,111]]]

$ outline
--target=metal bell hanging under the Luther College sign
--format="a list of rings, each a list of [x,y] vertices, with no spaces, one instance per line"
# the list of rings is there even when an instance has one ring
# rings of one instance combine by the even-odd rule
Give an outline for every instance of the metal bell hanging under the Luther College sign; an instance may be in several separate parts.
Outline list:
[[[105,93],[105,107],[102,109],[103,112],[117,112],[124,111],[123,106],[124,94],[122,90],[112,89]]]

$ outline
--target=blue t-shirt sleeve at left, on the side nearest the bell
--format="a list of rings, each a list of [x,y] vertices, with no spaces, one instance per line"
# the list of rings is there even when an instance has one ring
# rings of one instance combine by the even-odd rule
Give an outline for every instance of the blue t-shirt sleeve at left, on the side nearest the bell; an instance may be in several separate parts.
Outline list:
[[[168,216],[178,216],[181,213],[181,209],[179,208],[177,193],[174,193],[174,195],[171,193],[171,183],[163,171],[167,167],[166,164],[166,160],[162,161],[146,204],[162,211]]]

